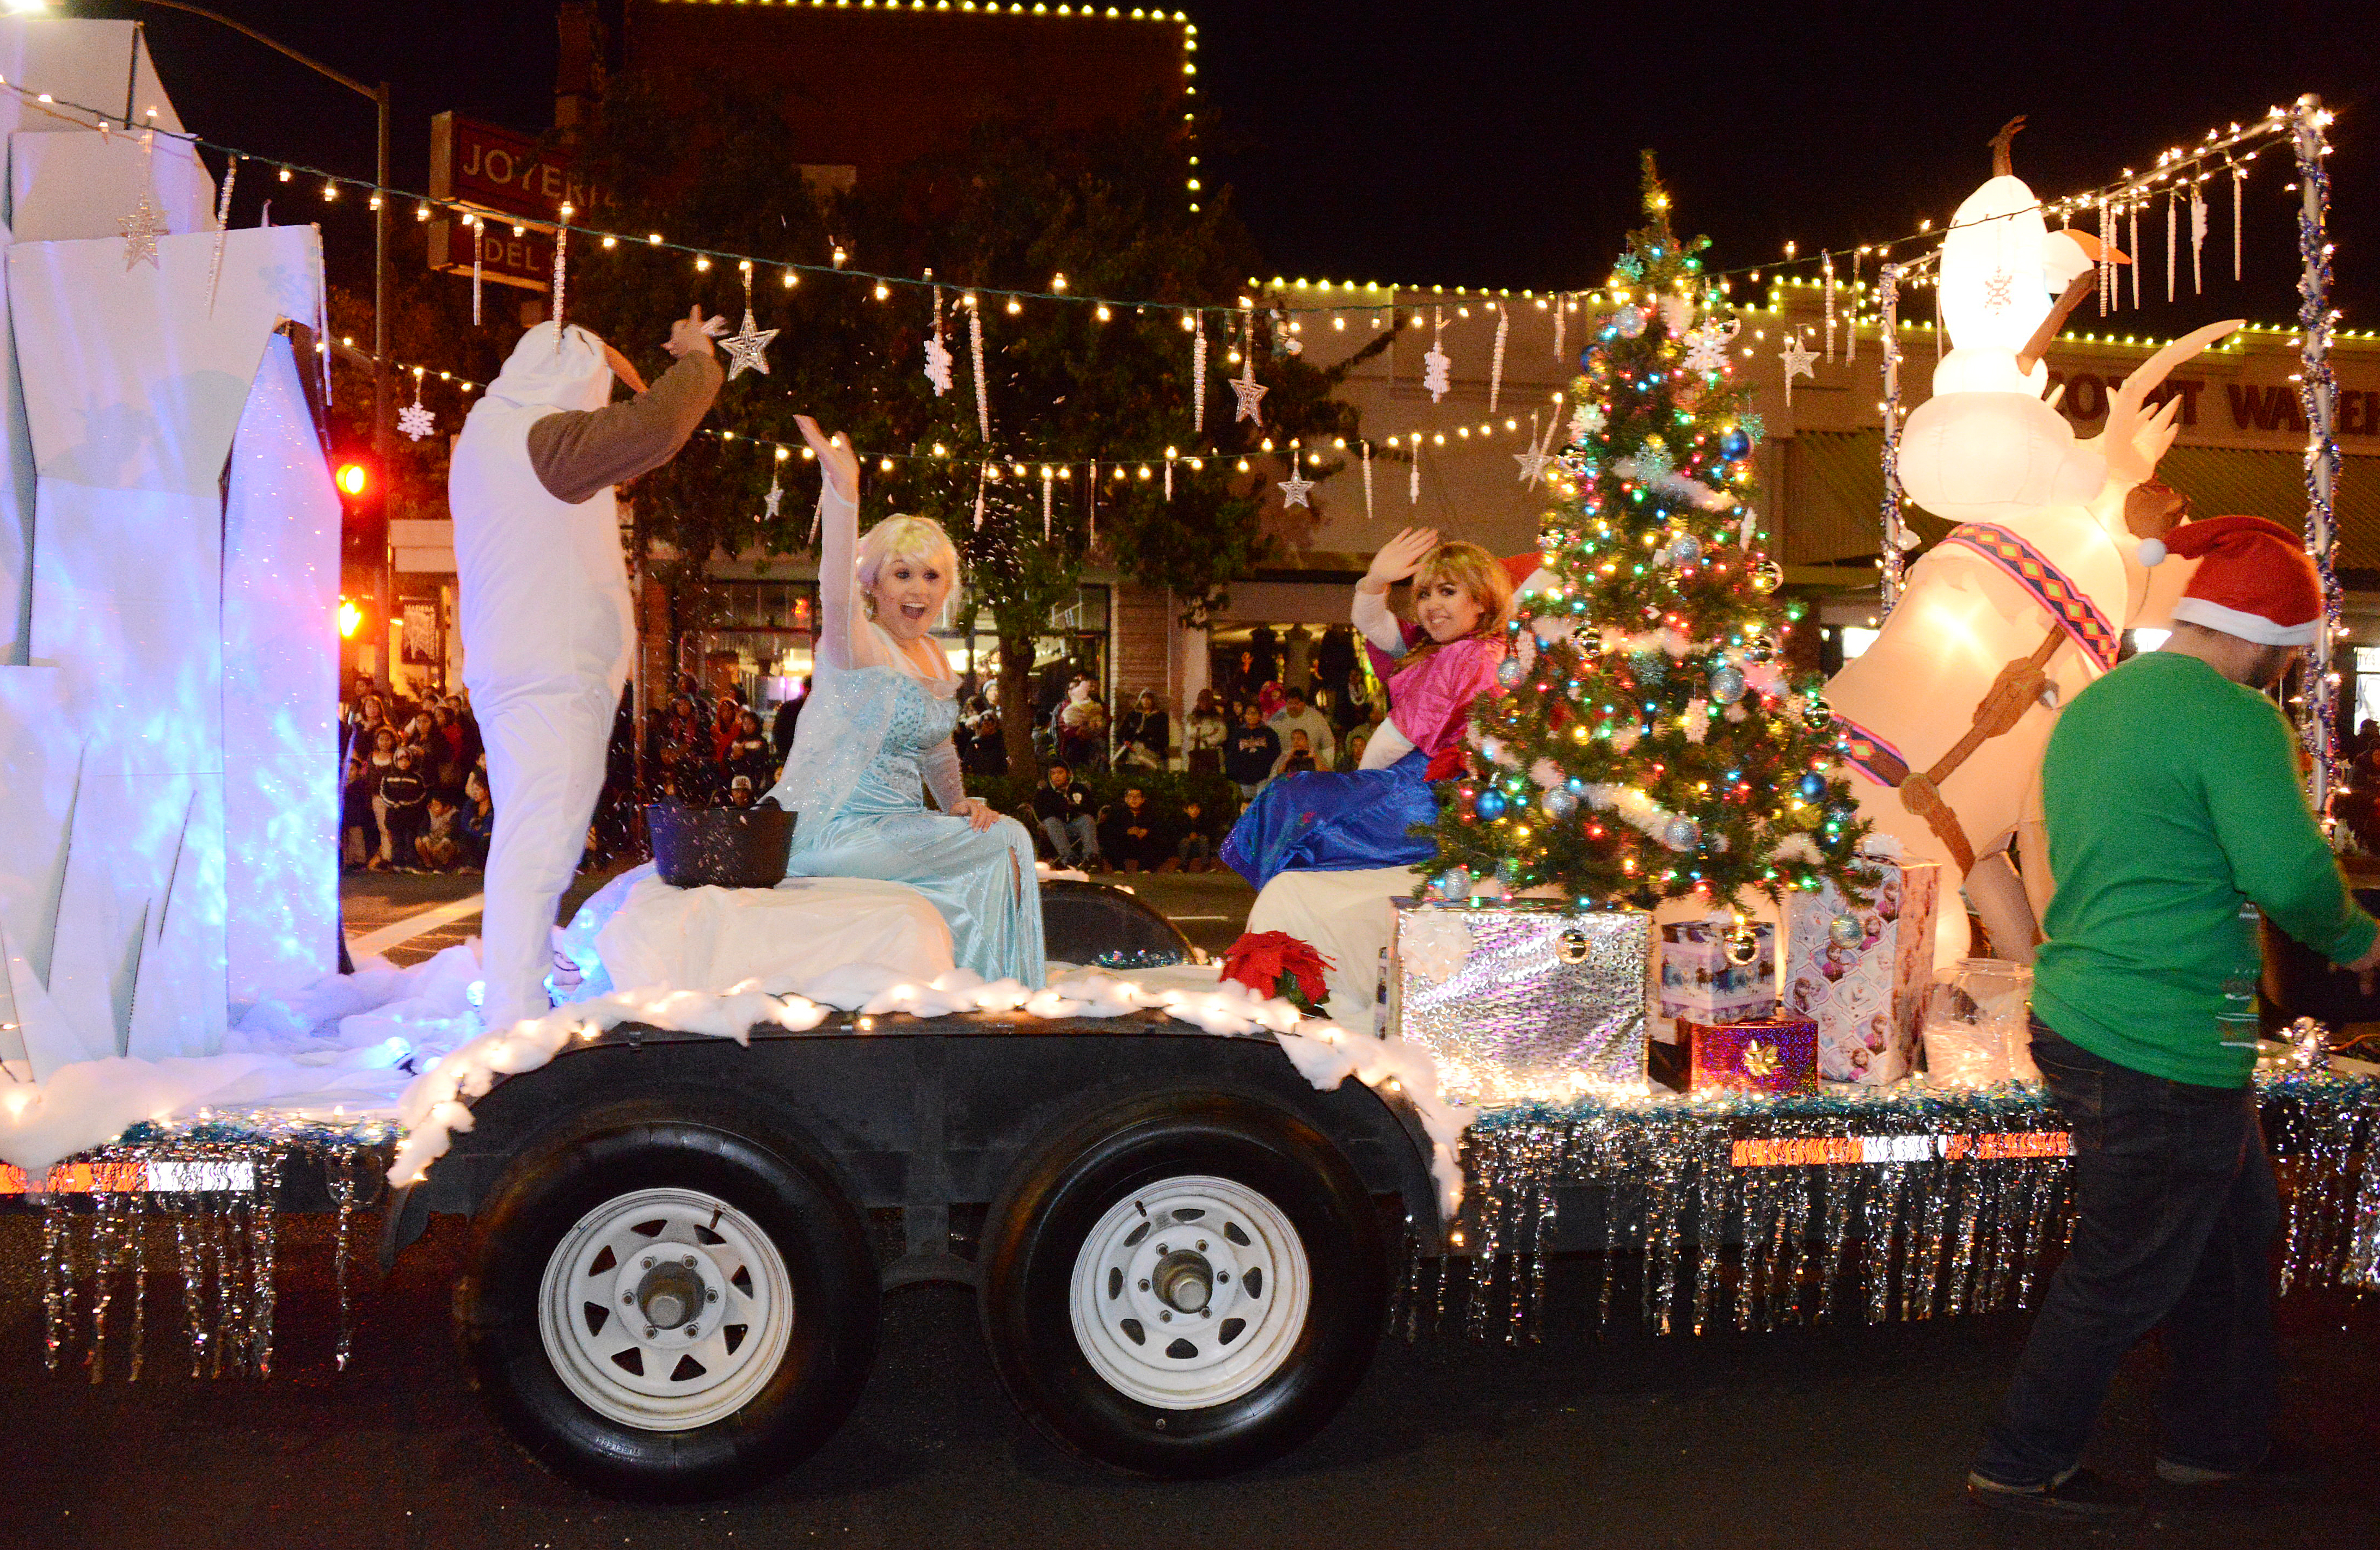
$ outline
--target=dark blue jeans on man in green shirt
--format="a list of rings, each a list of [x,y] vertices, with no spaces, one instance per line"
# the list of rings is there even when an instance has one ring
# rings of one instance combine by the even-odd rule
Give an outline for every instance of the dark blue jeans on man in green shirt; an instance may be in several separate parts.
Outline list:
[[[2256,1090],[2147,1076],[2040,1021],[2033,1060],[2073,1133],[2075,1233],[1975,1471],[2044,1486],[2073,1469],[2116,1364],[2152,1329],[2166,1348],[2159,1457],[2254,1467],[2280,1369],[2280,1188]]]

